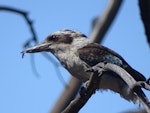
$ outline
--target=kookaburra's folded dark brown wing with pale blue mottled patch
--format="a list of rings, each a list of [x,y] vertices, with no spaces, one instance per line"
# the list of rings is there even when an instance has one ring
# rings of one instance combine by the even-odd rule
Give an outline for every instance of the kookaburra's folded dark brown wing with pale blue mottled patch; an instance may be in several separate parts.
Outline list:
[[[124,68],[135,80],[146,80],[141,73],[129,66],[119,54],[99,44],[88,44],[83,48],[78,49],[78,53],[80,59],[89,66],[94,66],[100,62],[112,63]]]

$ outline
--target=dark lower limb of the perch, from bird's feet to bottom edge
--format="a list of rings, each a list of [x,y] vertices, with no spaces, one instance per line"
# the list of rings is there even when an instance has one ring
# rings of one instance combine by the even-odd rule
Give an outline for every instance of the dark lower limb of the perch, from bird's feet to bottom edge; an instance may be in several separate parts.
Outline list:
[[[81,88],[80,95],[76,97],[67,108],[61,113],[78,113],[79,110],[86,104],[96,89],[99,88],[100,77],[104,70],[94,71],[85,87]]]

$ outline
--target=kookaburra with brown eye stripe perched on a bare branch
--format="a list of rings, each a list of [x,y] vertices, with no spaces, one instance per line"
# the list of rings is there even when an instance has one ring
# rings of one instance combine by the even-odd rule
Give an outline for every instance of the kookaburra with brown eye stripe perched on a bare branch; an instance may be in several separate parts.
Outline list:
[[[116,64],[126,70],[136,81],[146,81],[146,78],[133,69],[118,53],[91,42],[86,35],[75,30],[65,29],[51,33],[43,42],[22,51],[22,57],[25,53],[37,52],[52,53],[68,72],[82,82],[87,82],[90,78],[91,73],[86,70],[100,62]],[[102,76],[99,89],[112,90],[128,101],[139,103],[136,94],[128,93],[129,87],[115,73],[107,72]],[[144,92],[141,89],[138,91],[143,100],[148,103]]]

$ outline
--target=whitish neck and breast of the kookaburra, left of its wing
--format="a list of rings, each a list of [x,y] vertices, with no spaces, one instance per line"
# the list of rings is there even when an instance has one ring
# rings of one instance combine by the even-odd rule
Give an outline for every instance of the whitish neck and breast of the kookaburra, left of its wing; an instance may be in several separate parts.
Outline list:
[[[82,81],[86,81],[89,76],[85,73],[87,65],[79,58],[77,50],[89,43],[89,40],[83,38],[83,40],[76,39],[72,42],[71,47],[62,49],[54,55],[59,59],[61,64],[75,77]]]

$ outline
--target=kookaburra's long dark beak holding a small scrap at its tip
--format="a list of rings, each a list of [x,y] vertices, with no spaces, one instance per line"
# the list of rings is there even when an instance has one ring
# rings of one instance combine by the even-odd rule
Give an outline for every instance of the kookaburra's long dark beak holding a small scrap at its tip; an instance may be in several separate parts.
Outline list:
[[[49,51],[50,50],[50,43],[48,42],[42,42],[35,46],[32,46],[24,51],[22,51],[22,58],[24,57],[25,53],[36,53],[36,52],[43,52],[43,51]]]

